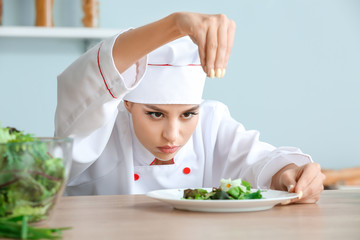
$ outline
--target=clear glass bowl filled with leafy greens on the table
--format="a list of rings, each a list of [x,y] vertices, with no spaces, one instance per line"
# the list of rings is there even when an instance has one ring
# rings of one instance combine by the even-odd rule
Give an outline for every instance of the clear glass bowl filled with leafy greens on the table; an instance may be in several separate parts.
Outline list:
[[[72,144],[70,138],[0,144],[0,217],[48,219],[69,176]]]

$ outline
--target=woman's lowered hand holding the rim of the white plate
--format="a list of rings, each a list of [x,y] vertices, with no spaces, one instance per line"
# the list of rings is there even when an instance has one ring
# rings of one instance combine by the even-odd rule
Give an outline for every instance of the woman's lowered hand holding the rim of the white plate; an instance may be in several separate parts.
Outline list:
[[[316,203],[324,190],[325,175],[318,163],[308,163],[298,167],[289,164],[280,169],[272,178],[271,189],[298,193],[299,198],[285,202]]]

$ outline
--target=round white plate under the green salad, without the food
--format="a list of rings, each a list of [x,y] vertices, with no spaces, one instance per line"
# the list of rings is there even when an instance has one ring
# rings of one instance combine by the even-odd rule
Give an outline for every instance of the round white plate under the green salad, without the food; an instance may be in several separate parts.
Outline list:
[[[204,188],[208,192],[211,188]],[[252,191],[257,191],[253,189]],[[248,200],[188,200],[182,199],[184,189],[163,189],[148,192],[148,197],[170,203],[174,208],[199,212],[250,212],[262,211],[276,204],[297,198],[297,193],[276,190],[261,190],[263,199]]]

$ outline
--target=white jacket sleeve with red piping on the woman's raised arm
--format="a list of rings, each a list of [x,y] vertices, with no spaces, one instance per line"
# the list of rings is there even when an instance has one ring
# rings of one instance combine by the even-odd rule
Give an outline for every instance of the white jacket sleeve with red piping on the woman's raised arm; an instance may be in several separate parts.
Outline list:
[[[72,172],[76,174],[100,156],[118,105],[146,70],[144,57],[124,73],[117,71],[112,57],[117,36],[95,45],[58,76],[55,136],[74,139]]]

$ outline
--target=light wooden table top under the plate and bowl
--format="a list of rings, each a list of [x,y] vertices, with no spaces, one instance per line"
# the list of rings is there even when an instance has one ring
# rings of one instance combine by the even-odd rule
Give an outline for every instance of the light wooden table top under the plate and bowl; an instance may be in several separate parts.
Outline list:
[[[360,190],[327,190],[317,204],[246,213],[173,209],[144,195],[62,197],[51,227],[64,239],[360,239]]]

